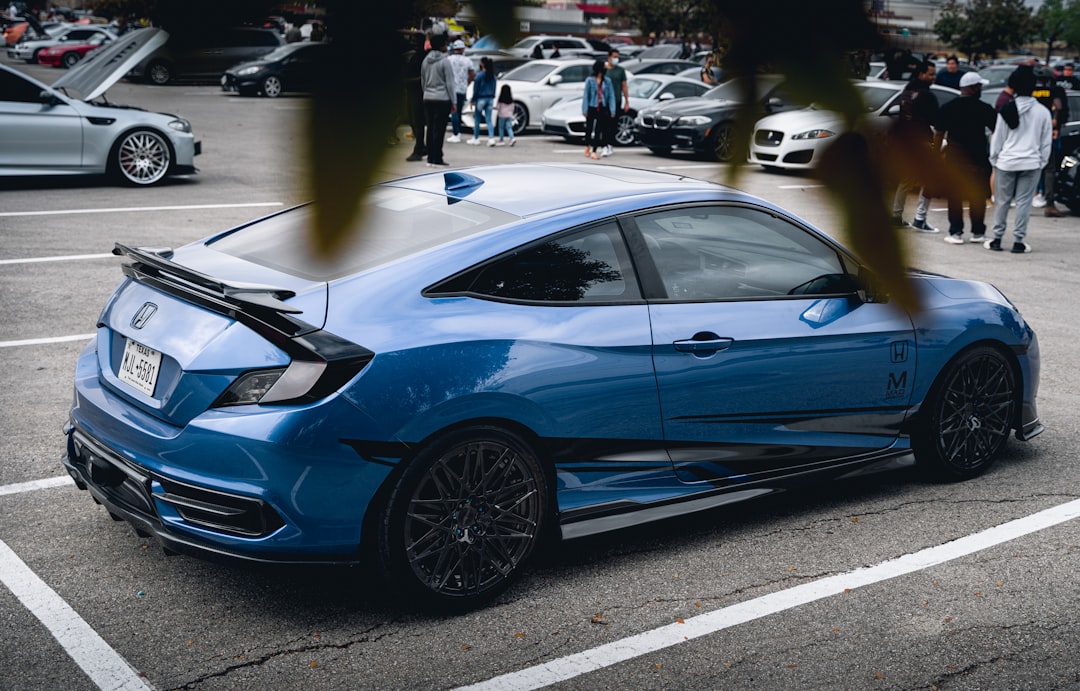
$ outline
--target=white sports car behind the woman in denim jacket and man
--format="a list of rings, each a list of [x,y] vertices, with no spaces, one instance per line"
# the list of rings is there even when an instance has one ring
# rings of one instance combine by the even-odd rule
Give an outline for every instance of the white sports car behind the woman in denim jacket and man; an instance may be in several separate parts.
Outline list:
[[[672,74],[630,76],[626,92],[630,95],[630,110],[618,113],[615,143],[630,146],[637,139],[634,118],[637,111],[651,104],[687,96],[700,96],[711,86],[700,80],[685,79]],[[585,136],[585,117],[581,113],[581,96],[561,100],[544,111],[540,128],[544,134],[555,134],[567,139]]]

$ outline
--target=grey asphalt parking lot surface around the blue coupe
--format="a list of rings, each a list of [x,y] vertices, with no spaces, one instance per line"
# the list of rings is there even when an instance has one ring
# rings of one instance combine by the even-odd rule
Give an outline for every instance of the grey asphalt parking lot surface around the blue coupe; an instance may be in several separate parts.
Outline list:
[[[152,189],[0,178],[0,689],[1080,688],[1080,218],[1034,216],[1018,256],[905,235],[913,265],[994,283],[1038,333],[1048,430],[986,476],[902,470],[565,543],[495,605],[432,617],[389,607],[363,568],[166,556],[66,480],[112,244],[177,245],[308,197],[306,97],[121,82],[109,98],[189,119],[204,153]],[[430,171],[401,135],[378,177]],[[446,159],[728,172],[639,148],[586,162],[538,134]],[[737,185],[836,228],[810,177]]]

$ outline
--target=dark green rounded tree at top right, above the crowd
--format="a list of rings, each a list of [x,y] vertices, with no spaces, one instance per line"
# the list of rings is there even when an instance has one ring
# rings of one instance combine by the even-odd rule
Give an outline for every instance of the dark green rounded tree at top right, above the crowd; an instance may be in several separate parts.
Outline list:
[[[950,0],[934,23],[934,31],[972,60],[1030,41],[1037,26],[1024,0]]]

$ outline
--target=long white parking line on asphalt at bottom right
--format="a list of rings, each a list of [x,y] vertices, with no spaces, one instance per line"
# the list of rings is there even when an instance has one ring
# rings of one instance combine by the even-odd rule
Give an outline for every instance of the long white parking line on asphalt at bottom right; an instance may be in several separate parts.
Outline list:
[[[880,581],[921,571],[1077,517],[1080,517],[1080,500],[1017,518],[935,547],[928,547],[914,554],[882,561],[874,567],[855,569],[848,573],[764,595],[739,605],[687,619],[686,623],[683,624],[669,624],[592,650],[462,687],[461,691],[465,689],[469,691],[523,691],[566,681],[619,662],[714,634],[724,628],[744,624],[833,595],[840,595],[864,585],[873,585]]]

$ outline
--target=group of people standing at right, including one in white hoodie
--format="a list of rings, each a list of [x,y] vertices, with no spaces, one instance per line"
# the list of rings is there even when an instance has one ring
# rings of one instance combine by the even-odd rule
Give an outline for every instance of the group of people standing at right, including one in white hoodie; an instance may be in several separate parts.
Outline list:
[[[1013,212],[1014,254],[1031,252],[1027,227],[1032,207],[1042,207],[1051,218],[1067,216],[1054,200],[1054,181],[1061,164],[1058,133],[1068,122],[1067,91],[1080,89],[1080,79],[1066,66],[1061,77],[1049,67],[1018,65],[995,106],[983,103],[986,80],[978,72],[956,69],[950,56],[945,72],[939,74],[930,60],[912,64],[912,77],[901,95],[900,117],[891,133],[896,152],[912,147],[929,147],[936,170],[907,167],[893,199],[893,222],[921,232],[940,232],[927,220],[931,197],[948,201],[948,234],[954,245],[963,240],[963,205],[970,216],[969,242],[1001,252]],[[944,79],[943,79],[944,77]],[[939,107],[931,91],[933,83],[959,89],[960,96]],[[989,134],[988,134],[989,133]],[[904,207],[910,192],[918,202],[910,223]],[[991,226],[986,226],[987,205],[993,203]],[[1014,211],[1013,211],[1014,209]],[[987,232],[989,230],[989,232]]]

